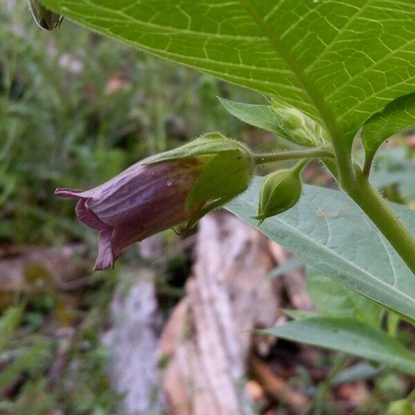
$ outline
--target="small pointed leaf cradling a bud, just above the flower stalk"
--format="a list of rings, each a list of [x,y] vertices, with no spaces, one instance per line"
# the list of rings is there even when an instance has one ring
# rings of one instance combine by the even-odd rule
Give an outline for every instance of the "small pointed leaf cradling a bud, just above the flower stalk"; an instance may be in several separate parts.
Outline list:
[[[247,124],[275,133],[295,144],[306,147],[322,145],[328,140],[324,129],[301,111],[283,106],[244,104],[219,98],[232,116]]]

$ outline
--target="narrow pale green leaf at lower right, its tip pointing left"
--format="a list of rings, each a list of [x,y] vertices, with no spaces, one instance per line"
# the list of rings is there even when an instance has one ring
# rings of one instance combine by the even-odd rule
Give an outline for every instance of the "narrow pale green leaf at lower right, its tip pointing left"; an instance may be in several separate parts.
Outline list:
[[[415,375],[415,356],[411,351],[384,331],[353,319],[311,317],[261,333],[343,351]]]

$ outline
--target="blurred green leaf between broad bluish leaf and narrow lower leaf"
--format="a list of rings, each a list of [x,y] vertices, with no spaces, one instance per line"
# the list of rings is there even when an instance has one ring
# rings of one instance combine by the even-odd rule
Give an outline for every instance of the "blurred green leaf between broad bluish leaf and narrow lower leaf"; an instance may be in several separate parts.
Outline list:
[[[322,317],[353,318],[380,327],[385,308],[311,268],[307,270],[307,291]]]

